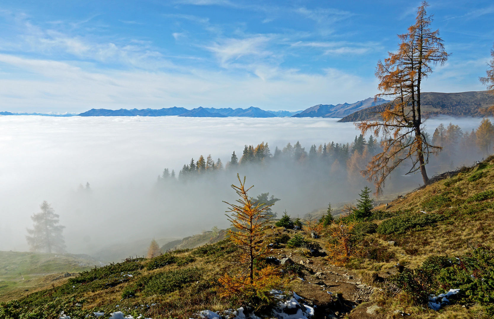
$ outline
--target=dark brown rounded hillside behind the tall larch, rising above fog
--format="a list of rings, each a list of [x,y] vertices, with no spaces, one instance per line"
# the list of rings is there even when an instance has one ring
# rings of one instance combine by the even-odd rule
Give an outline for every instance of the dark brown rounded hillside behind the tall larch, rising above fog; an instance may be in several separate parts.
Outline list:
[[[424,92],[421,94],[424,115],[482,116],[482,108],[494,105],[494,95],[488,91],[471,91],[460,93]],[[389,104],[371,106],[343,117],[338,122],[359,122],[377,119]]]

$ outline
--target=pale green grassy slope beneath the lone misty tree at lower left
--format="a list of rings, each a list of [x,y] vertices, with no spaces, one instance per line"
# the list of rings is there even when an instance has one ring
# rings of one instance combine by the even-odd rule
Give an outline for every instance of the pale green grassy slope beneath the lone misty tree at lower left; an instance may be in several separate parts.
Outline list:
[[[101,266],[87,255],[0,251],[0,301],[50,285],[61,273],[78,273],[95,265]]]

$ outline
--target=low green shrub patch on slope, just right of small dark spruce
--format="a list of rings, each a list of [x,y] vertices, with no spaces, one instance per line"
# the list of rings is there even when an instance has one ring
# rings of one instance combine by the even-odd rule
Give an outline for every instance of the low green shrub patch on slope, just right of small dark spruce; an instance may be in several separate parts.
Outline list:
[[[421,227],[432,225],[445,217],[440,214],[405,213],[384,220],[376,229],[381,235],[403,234],[409,229],[420,230]]]

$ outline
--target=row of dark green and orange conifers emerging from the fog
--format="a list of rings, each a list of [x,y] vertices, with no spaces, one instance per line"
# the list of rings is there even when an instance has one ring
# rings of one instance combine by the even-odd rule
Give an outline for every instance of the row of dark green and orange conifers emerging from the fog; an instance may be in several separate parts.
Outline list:
[[[429,158],[429,166],[436,172],[453,169],[460,165],[469,165],[472,160],[491,154],[494,142],[494,126],[488,118],[481,120],[477,129],[464,132],[458,125],[440,124],[433,135],[425,134],[428,142],[442,147],[441,152]],[[380,141],[372,135],[365,138],[362,134],[355,137],[353,142],[312,144],[302,147],[300,142],[288,143],[285,147],[275,147],[271,151],[267,142],[245,145],[242,155],[234,151],[230,160],[225,164],[221,159],[214,160],[211,155],[206,158],[201,155],[198,160],[192,158],[184,164],[176,176],[175,171],[165,169],[159,182],[179,180],[209,175],[224,170],[237,170],[243,167],[268,166],[269,164],[292,164],[314,170],[326,168],[332,173],[346,172],[347,177],[361,179],[360,171],[365,170],[372,156],[381,151]],[[240,158],[239,158],[240,157]],[[290,166],[291,167],[291,166]]]

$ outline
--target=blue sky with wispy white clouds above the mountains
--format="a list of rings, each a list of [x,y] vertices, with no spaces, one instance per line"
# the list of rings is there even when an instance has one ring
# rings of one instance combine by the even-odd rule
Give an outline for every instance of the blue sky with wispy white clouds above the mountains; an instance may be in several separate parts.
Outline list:
[[[304,109],[377,93],[419,1],[0,1],[0,110]],[[424,91],[483,90],[494,3],[431,1],[450,60]]]

